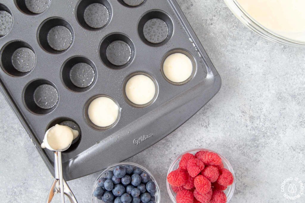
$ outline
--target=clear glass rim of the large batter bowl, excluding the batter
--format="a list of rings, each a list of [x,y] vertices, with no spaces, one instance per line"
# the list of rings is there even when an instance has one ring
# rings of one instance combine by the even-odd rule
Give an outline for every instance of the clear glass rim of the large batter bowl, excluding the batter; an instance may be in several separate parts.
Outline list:
[[[233,14],[247,27],[256,32],[262,37],[265,37],[268,40],[290,45],[296,47],[305,47],[304,41],[293,40],[282,35],[279,35],[266,27],[262,26],[255,19],[253,19],[240,5],[236,0],[224,0],[229,9],[233,12]]]

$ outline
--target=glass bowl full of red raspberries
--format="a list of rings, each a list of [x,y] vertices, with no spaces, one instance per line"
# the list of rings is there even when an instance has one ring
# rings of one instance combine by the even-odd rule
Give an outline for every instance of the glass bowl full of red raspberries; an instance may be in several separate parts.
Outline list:
[[[231,164],[210,149],[192,149],[179,155],[167,174],[167,191],[175,203],[226,203],[233,196]]]

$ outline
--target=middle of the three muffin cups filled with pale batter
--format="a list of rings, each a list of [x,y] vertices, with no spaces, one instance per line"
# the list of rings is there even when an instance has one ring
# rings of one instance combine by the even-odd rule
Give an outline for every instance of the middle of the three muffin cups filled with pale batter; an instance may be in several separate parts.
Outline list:
[[[156,80],[145,72],[129,75],[123,83],[124,99],[133,107],[147,107],[158,96],[159,87]]]

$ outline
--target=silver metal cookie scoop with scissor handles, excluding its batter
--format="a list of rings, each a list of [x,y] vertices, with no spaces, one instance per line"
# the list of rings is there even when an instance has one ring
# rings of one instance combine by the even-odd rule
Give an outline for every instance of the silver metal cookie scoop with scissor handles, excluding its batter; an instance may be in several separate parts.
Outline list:
[[[45,137],[47,137],[46,135],[48,134],[50,129],[45,133]],[[65,202],[65,196],[64,196],[65,194],[69,198],[71,203],[77,203],[77,200],[76,200],[73,192],[71,191],[70,187],[68,186],[66,180],[63,179],[63,167],[62,167],[62,159],[61,159],[62,153],[61,152],[66,151],[70,147],[71,144],[63,150],[54,150],[48,145],[47,140],[44,140],[44,141],[46,142],[46,143],[44,143],[44,145],[47,146],[46,148],[51,151],[54,151],[54,169],[55,169],[55,180],[53,181],[51,189],[48,193],[46,202],[50,203],[52,201],[53,197],[56,194],[60,193],[62,203]]]

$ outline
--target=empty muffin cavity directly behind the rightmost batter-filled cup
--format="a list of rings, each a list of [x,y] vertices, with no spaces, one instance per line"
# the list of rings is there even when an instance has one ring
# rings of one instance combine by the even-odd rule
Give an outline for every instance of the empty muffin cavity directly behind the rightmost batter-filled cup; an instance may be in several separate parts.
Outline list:
[[[141,40],[152,47],[166,44],[174,33],[174,23],[170,16],[161,10],[146,12],[138,23]]]

